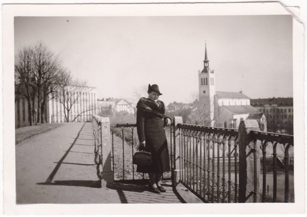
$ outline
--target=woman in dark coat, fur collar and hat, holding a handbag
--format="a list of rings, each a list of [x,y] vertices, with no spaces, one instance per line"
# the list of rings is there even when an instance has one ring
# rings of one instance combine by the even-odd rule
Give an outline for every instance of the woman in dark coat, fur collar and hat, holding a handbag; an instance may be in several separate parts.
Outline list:
[[[138,165],[137,172],[148,173],[150,188],[154,193],[165,192],[160,180],[163,172],[170,171],[169,151],[165,136],[165,125],[171,124],[171,119],[165,117],[164,103],[159,99],[162,95],[157,84],[148,85],[148,98],[142,97],[137,104],[137,130],[140,149],[151,153],[153,165],[144,167]]]

